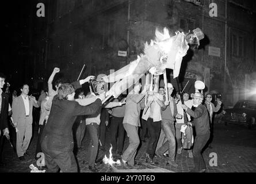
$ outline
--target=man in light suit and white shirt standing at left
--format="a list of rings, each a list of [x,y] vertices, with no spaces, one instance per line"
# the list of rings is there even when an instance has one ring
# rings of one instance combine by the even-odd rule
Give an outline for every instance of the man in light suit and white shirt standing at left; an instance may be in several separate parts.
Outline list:
[[[28,146],[32,137],[33,106],[39,108],[39,102],[35,97],[28,96],[29,86],[23,85],[21,95],[13,100],[13,124],[17,128],[16,150],[20,160],[25,160],[28,156]]]

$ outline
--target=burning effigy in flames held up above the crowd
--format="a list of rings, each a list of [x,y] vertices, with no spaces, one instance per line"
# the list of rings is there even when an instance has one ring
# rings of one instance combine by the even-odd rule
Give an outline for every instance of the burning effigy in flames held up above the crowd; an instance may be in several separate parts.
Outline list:
[[[151,40],[150,44],[146,42],[143,54],[140,54],[127,66],[102,78],[102,81],[106,83],[116,82],[106,96],[113,95],[114,98],[117,98],[139,81],[146,72],[150,72],[152,75],[161,75],[166,68],[170,68],[173,70],[173,77],[176,78],[179,75],[182,57],[189,49],[188,44],[199,45],[199,40],[203,38],[204,33],[199,28],[187,34],[175,32],[175,36],[172,37],[167,28],[163,29],[163,33],[156,29],[155,40]]]

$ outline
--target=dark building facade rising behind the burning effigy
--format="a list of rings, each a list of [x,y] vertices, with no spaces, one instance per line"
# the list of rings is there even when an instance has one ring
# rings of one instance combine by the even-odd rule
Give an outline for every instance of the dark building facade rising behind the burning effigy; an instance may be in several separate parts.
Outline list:
[[[83,64],[85,75],[119,70],[143,53],[155,29],[188,32],[201,28],[205,39],[198,50],[189,49],[182,61],[179,81],[194,91],[204,81],[206,91],[221,93],[232,106],[246,98],[246,75],[255,71],[256,37],[254,1],[224,0],[54,0],[47,4],[45,39],[41,55],[47,80],[58,66],[66,78],[76,80]],[[216,8],[216,11],[213,11]],[[215,16],[213,16],[215,15]],[[119,51],[123,55],[119,55]],[[35,74],[39,72],[35,71]],[[171,76],[172,83],[176,83]],[[174,85],[175,86],[175,85]],[[177,86],[177,85],[176,85]],[[255,86],[256,87],[256,86]]]

